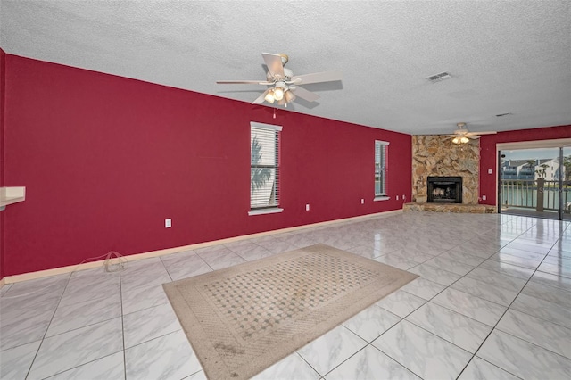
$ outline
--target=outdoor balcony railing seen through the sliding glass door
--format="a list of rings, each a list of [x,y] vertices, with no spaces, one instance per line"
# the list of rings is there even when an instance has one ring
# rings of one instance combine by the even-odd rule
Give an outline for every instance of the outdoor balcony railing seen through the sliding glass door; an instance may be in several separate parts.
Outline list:
[[[561,193],[563,194],[563,210],[569,212],[571,210],[571,184],[564,184]],[[541,211],[541,207],[537,207],[538,198],[540,202],[543,198],[542,210],[558,211],[559,181],[546,180],[543,186],[538,189],[537,180],[501,180],[501,205],[504,207],[520,207]]]

